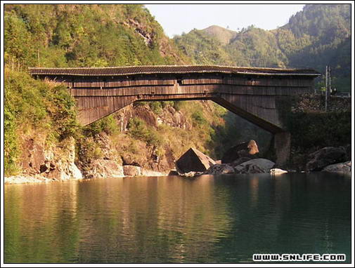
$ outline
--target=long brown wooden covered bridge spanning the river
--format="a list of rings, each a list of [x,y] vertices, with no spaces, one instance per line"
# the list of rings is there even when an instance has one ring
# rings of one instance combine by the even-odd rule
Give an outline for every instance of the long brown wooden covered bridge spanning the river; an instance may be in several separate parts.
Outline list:
[[[280,107],[291,95],[313,91],[319,75],[314,69],[214,65],[30,68],[30,74],[65,83],[83,125],[135,101],[213,100],[273,133],[279,163],[290,149]]]

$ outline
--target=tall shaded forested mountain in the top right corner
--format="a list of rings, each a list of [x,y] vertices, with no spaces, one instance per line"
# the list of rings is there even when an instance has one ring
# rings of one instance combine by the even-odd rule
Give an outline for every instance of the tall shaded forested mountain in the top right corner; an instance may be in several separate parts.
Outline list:
[[[282,34],[288,32],[287,37]],[[322,70],[333,67],[336,76],[350,75],[351,5],[311,4],[290,18],[287,25],[276,30],[278,42],[288,43],[283,52],[291,65],[310,66]],[[304,40],[298,42],[297,40]],[[342,55],[348,55],[343,57]]]

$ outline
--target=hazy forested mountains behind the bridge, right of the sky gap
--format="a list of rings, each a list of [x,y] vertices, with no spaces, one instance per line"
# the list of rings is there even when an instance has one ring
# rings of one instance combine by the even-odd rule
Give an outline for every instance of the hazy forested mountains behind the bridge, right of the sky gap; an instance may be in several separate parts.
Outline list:
[[[324,72],[325,65],[330,65],[335,86],[341,91],[350,91],[349,4],[306,5],[302,11],[292,15],[287,25],[271,31],[254,26],[235,34],[231,34],[233,31],[229,29],[213,29],[193,29],[188,34],[174,37],[174,41],[195,63],[200,64],[310,67],[319,72]]]

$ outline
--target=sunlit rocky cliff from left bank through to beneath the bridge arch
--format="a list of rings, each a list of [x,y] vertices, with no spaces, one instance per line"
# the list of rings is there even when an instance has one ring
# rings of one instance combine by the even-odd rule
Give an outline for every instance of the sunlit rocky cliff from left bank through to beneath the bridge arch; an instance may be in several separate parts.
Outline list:
[[[18,133],[18,170],[50,180],[167,175],[190,147],[219,157],[226,135],[216,137],[215,130],[224,128],[225,115],[209,101],[143,102],[113,114],[111,131],[89,126],[59,142],[49,130],[34,128]]]

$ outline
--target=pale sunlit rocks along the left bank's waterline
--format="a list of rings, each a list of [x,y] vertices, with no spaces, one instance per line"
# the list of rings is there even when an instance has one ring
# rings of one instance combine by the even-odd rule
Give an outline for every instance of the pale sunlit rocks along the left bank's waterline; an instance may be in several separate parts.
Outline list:
[[[46,145],[46,137],[37,135],[23,138],[20,154],[20,174],[4,177],[4,183],[47,183],[66,180],[82,180],[104,177],[163,176],[159,172],[143,168],[138,163],[123,163],[114,156],[116,153],[107,135],[102,135],[98,142],[105,146],[101,149],[100,159],[78,161],[75,140],[68,138],[61,144]],[[83,152],[82,152],[83,153]],[[87,153],[87,152],[84,152]]]

